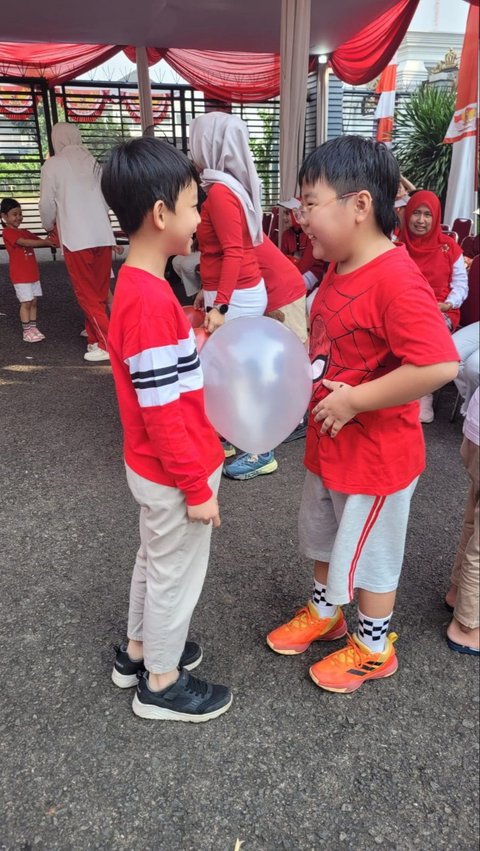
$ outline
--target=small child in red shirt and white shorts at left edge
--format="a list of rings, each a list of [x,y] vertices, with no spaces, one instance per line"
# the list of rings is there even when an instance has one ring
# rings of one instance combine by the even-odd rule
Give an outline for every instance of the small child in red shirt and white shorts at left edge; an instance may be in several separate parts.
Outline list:
[[[10,261],[10,280],[20,302],[20,322],[25,343],[39,343],[45,339],[37,328],[37,298],[42,295],[40,272],[34,248],[54,248],[51,239],[40,239],[21,228],[22,208],[15,198],[3,198],[0,204],[3,241]]]

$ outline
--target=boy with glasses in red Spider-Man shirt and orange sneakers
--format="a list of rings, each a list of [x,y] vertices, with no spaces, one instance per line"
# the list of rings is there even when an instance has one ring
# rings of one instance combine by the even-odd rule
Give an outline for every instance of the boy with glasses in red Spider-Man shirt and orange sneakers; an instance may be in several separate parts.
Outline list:
[[[330,261],[311,314],[314,392],[299,517],[315,584],[312,600],[267,642],[296,654],[341,638],[340,607],[358,589],[357,633],[310,668],[335,692],[397,670],[388,626],[425,467],[415,400],[458,370],[430,286],[389,238],[399,177],[385,145],[343,136],[310,154],[299,178],[303,228],[314,255]]]

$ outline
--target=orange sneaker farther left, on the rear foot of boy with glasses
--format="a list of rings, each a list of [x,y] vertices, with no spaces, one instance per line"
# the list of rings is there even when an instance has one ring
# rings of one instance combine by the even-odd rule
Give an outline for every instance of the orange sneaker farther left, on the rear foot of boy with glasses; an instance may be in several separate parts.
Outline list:
[[[309,600],[288,623],[267,635],[267,644],[275,653],[294,656],[303,653],[312,641],[334,641],[347,633],[347,624],[340,606],[333,618],[320,618]]]

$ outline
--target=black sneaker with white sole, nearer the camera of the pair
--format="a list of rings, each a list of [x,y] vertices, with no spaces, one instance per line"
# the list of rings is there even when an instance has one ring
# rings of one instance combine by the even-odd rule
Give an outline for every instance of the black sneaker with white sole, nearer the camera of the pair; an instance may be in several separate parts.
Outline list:
[[[231,703],[232,694],[226,686],[197,680],[182,668],[178,680],[162,691],[150,690],[145,672],[137,683],[132,709],[140,718],[198,724],[223,715]]]

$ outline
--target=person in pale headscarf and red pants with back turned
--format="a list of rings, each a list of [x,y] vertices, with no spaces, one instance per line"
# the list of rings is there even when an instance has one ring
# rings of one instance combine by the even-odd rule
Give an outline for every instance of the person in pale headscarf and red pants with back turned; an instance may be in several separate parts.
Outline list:
[[[73,290],[85,314],[84,358],[108,360],[106,302],[115,237],[100,189],[100,168],[82,145],[75,124],[55,124],[52,143],[55,156],[41,172],[40,218],[47,232],[57,227]]]

